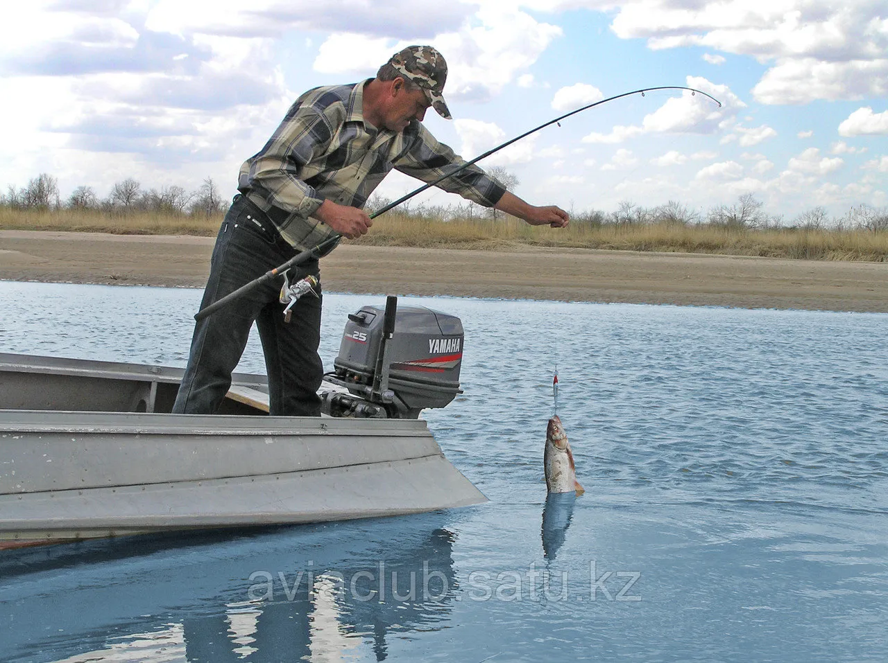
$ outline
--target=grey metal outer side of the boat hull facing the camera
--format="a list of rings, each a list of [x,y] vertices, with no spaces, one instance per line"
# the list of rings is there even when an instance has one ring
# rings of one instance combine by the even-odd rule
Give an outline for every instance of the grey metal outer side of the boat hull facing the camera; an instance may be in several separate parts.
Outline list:
[[[422,419],[0,409],[0,548],[486,501]]]

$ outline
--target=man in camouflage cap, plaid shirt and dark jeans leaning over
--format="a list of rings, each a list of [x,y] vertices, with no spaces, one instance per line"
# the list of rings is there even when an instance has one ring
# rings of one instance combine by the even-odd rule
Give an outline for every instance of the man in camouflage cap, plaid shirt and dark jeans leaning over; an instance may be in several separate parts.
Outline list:
[[[352,239],[366,234],[372,221],[361,207],[392,168],[431,182],[463,165],[420,123],[429,106],[450,119],[441,96],[446,79],[447,63],[438,51],[410,46],[376,78],[315,88],[298,98],[266,146],[241,168],[241,193],[219,229],[201,308],[337,233]],[[564,210],[528,205],[476,166],[438,186],[533,225],[567,226]],[[318,261],[308,261],[291,269],[289,280],[318,273]],[[255,288],[195,325],[173,412],[218,409],[255,320],[270,413],[320,415],[320,282],[318,297],[299,299],[289,323],[280,287]]]

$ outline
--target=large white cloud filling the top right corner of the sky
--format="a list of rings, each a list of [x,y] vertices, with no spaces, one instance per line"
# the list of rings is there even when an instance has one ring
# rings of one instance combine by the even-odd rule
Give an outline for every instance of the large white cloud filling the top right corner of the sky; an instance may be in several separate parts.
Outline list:
[[[614,34],[646,39],[651,49],[700,46],[772,65],[753,89],[765,104],[882,97],[888,87],[884,3],[602,0],[592,6],[616,9]]]

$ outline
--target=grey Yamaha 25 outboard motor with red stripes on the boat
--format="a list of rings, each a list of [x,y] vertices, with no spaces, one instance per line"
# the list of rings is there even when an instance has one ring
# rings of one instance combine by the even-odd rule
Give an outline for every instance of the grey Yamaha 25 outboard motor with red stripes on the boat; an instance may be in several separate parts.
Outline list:
[[[416,418],[462,394],[463,323],[431,308],[364,306],[348,316],[334,370],[324,378],[344,391],[321,393],[334,417]]]

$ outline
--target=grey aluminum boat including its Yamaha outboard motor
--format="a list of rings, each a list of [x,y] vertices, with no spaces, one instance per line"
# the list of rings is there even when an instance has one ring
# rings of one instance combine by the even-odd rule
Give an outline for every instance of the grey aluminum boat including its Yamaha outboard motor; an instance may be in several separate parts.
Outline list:
[[[404,308],[386,335],[385,317],[349,316],[323,417],[269,417],[264,376],[174,415],[181,369],[0,354],[0,548],[486,502],[416,418],[458,392],[461,324]]]

